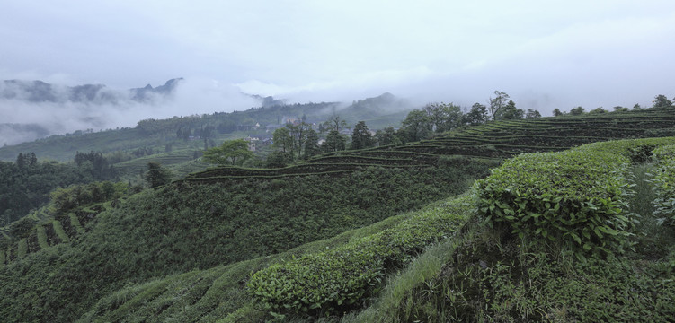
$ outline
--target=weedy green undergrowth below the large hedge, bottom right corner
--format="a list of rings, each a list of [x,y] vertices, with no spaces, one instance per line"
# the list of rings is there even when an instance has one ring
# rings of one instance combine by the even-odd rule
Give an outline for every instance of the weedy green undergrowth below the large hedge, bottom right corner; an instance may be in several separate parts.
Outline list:
[[[493,241],[490,241],[493,242]],[[654,322],[675,319],[673,272],[623,258],[560,261],[480,239],[456,249],[440,275],[386,313],[388,322]],[[442,273],[442,274],[441,274]],[[393,318],[391,318],[393,317]]]

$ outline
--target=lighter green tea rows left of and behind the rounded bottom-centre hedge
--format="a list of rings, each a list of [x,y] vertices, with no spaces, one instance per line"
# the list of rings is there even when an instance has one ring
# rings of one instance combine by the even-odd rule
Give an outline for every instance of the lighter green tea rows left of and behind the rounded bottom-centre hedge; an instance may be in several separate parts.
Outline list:
[[[446,202],[426,206],[443,208]],[[420,212],[399,214],[384,221],[346,231],[327,240],[317,240],[295,249],[267,257],[255,258],[235,264],[218,265],[206,270],[192,270],[185,274],[169,275],[162,279],[151,279],[147,283],[129,284],[120,290],[102,297],[82,318],[81,322],[108,322],[111,317],[123,316],[127,321],[179,321],[179,322],[258,322],[267,314],[255,308],[251,296],[243,288],[251,273],[274,263],[282,263],[308,253],[324,252],[328,249],[340,248],[349,241],[360,240],[377,232],[395,227],[405,219],[410,219]],[[215,278],[215,280],[214,280]],[[166,281],[168,283],[165,283]],[[164,286],[164,292],[155,292],[156,297],[147,297],[136,306],[122,305],[133,300],[145,289]],[[200,285],[207,284],[205,292]],[[196,287],[196,288],[195,288]],[[200,292],[201,291],[201,292]],[[113,304],[110,306],[109,304]],[[113,313],[114,312],[114,313]]]

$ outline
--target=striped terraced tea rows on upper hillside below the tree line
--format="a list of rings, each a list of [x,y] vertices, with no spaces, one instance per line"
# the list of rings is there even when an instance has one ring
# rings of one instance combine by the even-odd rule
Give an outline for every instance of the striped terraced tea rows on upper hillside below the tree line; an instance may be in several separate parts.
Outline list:
[[[431,140],[357,151],[326,153],[305,163],[272,170],[221,167],[186,181],[342,174],[370,166],[421,167],[466,162],[457,156],[509,158],[518,153],[561,151],[610,139],[675,135],[675,109],[644,109],[580,117],[531,118],[465,127]],[[455,156],[450,158],[449,156]]]

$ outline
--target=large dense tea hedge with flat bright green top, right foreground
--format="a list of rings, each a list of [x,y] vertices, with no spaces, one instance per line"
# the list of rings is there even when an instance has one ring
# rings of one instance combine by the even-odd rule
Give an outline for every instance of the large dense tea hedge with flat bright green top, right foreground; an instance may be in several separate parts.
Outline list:
[[[521,154],[475,183],[478,213],[520,239],[611,252],[628,235],[629,164],[584,150]]]

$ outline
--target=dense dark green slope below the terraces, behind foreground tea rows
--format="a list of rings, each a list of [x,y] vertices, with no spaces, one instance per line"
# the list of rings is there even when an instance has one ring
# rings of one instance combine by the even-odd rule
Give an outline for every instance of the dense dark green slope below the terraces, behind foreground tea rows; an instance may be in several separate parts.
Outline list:
[[[462,167],[369,168],[338,177],[177,182],[146,190],[97,214],[76,243],[7,266],[0,274],[6,282],[0,285],[0,317],[73,321],[129,282],[232,264],[333,237],[457,194],[487,165]],[[355,182],[360,185],[353,186]],[[43,296],[33,299],[21,292],[21,285]]]

